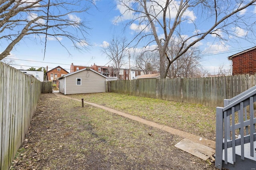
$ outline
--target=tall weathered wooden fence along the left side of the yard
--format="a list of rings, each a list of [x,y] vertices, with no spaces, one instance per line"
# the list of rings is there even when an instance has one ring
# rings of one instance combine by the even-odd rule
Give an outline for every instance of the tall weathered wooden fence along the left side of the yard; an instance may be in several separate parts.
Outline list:
[[[28,132],[41,83],[0,62],[0,169],[8,170]]]

